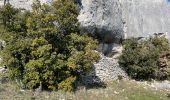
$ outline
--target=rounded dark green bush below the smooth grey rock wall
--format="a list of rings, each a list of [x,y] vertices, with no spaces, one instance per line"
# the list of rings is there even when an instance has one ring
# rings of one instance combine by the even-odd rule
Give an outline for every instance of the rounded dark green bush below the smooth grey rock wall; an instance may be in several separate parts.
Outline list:
[[[145,40],[130,39],[124,42],[124,50],[119,63],[128,75],[138,80],[168,79],[170,61],[168,40],[164,36],[154,36]],[[164,57],[162,54],[166,54]],[[164,59],[162,59],[164,58]],[[166,65],[163,66],[163,62]],[[163,68],[164,67],[164,68]]]

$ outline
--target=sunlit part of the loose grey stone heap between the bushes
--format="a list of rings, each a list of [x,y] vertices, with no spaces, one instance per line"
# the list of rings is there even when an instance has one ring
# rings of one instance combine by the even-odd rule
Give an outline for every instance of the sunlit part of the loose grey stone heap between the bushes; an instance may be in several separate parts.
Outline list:
[[[127,77],[126,73],[120,68],[118,60],[102,55],[99,63],[95,64],[96,76],[102,81],[116,80],[118,76]]]

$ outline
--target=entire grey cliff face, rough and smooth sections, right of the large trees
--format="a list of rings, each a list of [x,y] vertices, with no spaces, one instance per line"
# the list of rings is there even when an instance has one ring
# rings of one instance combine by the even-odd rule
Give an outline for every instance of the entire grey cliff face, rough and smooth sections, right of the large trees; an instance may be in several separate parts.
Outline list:
[[[78,19],[104,42],[114,42],[117,37],[147,37],[155,32],[170,37],[169,12],[168,0],[82,0]]]

